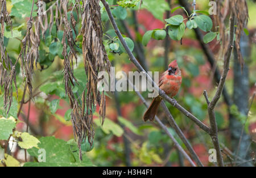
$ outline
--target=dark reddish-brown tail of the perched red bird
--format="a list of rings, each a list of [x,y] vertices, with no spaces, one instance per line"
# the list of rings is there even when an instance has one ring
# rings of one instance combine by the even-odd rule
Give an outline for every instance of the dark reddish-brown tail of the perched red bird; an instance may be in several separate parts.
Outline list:
[[[150,107],[147,108],[147,111],[144,113],[143,120],[146,122],[147,120],[154,121],[156,112],[158,111],[159,104],[161,103],[162,98],[157,96],[154,98]]]

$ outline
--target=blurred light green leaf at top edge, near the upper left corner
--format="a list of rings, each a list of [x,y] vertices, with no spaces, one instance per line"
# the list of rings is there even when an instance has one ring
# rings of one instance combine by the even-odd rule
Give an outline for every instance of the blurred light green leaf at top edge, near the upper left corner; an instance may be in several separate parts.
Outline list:
[[[12,1],[13,2],[13,1]],[[11,14],[16,18],[26,18],[30,17],[31,8],[32,8],[32,1],[31,0],[23,0],[23,1],[14,1],[13,7],[11,8]],[[34,5],[34,11],[32,16],[36,16],[36,5]]]

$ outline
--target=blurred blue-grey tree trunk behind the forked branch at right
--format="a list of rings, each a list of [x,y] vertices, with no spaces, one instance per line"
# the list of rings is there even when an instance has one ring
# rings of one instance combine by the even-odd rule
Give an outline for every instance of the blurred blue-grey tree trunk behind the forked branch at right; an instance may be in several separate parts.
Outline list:
[[[243,71],[241,71],[241,65],[238,61],[237,51],[235,48],[234,53],[234,66],[233,66],[233,76],[234,76],[234,82],[233,82],[233,101],[234,104],[237,105],[238,111],[242,115],[247,115],[248,112],[248,100],[249,100],[249,69],[246,65],[246,61],[250,57],[250,46],[249,46],[249,37],[245,34],[241,37],[241,52],[242,56],[245,59],[245,65],[243,65]],[[243,132],[242,136],[242,128],[243,123],[239,121],[236,117],[233,115],[230,115],[229,118],[229,128],[230,128],[230,134],[232,139],[232,148],[234,149],[234,153],[237,154],[237,156],[240,156],[242,159],[247,159],[248,150],[250,147],[250,136]],[[241,142],[240,142],[241,137]],[[240,143],[239,143],[240,142]],[[239,150],[238,150],[239,147]],[[251,162],[240,164],[240,166],[253,166]]]

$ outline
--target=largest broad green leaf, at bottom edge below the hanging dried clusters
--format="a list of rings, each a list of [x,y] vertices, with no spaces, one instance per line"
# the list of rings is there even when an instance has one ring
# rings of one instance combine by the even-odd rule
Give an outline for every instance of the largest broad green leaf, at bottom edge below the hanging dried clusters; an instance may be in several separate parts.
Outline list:
[[[79,150],[76,145],[69,145],[68,142],[55,137],[41,137],[38,147],[46,151],[46,162],[34,163],[27,162],[28,166],[93,166],[85,154],[82,155],[82,161],[79,160]],[[71,150],[72,149],[72,150]],[[41,154],[39,149],[33,147],[27,150],[31,156],[39,158]]]

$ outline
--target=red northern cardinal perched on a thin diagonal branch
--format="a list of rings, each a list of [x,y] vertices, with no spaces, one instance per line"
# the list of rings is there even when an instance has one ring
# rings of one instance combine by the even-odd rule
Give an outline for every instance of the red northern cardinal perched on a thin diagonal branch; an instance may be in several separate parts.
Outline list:
[[[172,61],[168,70],[166,70],[159,80],[159,88],[162,89],[167,95],[174,97],[180,89],[181,85],[181,71],[179,66],[177,65],[177,61]],[[150,107],[148,107],[146,113],[144,113],[143,120],[146,122],[147,120],[154,121],[156,112],[158,111],[159,104],[162,101],[161,96],[157,96],[154,98]]]

